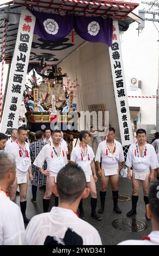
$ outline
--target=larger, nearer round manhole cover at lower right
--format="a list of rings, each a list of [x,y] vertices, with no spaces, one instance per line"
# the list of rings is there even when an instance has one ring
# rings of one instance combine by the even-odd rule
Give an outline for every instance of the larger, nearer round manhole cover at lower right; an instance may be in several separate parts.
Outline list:
[[[139,232],[145,230],[148,226],[143,221],[135,218],[118,218],[112,222],[114,228],[123,231]]]

